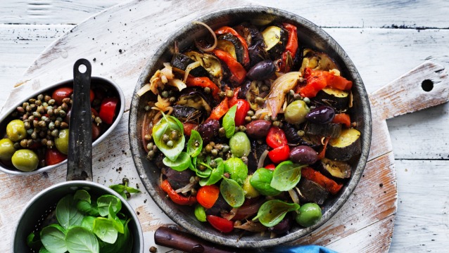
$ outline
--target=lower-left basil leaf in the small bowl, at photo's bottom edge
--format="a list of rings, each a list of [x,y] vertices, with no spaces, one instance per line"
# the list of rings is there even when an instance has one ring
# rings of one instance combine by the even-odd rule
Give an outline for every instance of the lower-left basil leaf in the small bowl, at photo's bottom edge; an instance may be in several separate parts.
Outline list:
[[[51,253],[64,253],[67,251],[64,228],[57,224],[51,224],[42,228],[41,240],[42,245]]]

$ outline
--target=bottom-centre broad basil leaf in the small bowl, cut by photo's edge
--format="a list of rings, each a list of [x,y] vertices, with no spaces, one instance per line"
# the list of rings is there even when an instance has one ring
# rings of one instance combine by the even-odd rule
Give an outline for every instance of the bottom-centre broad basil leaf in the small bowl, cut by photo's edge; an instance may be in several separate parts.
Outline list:
[[[65,235],[65,245],[69,252],[99,253],[99,240],[91,231],[82,227],[72,227]]]

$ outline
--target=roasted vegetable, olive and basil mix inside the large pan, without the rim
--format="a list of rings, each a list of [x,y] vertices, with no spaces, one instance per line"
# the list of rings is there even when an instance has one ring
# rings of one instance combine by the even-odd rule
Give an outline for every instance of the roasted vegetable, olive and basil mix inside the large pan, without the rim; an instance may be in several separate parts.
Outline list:
[[[160,188],[222,233],[322,218],[361,152],[353,82],[286,22],[220,27],[177,48],[147,93],[141,143]]]

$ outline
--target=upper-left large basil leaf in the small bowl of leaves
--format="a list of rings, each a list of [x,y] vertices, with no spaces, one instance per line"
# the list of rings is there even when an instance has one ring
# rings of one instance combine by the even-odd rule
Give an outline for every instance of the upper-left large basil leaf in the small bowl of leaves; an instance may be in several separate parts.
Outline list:
[[[56,219],[67,229],[70,226],[80,226],[84,215],[77,209],[77,202],[73,195],[66,195],[56,205]]]

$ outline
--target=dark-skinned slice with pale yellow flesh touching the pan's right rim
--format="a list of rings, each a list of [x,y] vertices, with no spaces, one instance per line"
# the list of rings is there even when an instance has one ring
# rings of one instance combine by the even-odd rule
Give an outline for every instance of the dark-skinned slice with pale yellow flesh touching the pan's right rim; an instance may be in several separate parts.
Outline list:
[[[331,138],[327,143],[326,157],[330,160],[347,162],[360,153],[360,131],[356,129],[343,129],[338,137]]]

